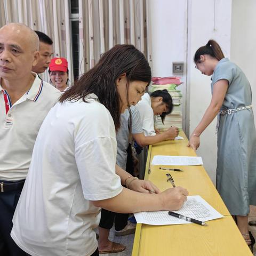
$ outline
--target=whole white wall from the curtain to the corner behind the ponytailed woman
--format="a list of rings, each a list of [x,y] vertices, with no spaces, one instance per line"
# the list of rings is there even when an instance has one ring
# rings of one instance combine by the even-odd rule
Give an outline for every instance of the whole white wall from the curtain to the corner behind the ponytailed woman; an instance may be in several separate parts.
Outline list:
[[[153,76],[172,75],[172,61],[187,62],[182,76],[183,116],[189,135],[201,120],[211,100],[210,77],[203,76],[193,62],[199,46],[210,38],[220,43],[230,55],[231,0],[148,0]],[[186,63],[185,63],[186,64]],[[186,68],[185,68],[186,70]],[[215,121],[201,137],[197,154],[215,182],[217,142]]]

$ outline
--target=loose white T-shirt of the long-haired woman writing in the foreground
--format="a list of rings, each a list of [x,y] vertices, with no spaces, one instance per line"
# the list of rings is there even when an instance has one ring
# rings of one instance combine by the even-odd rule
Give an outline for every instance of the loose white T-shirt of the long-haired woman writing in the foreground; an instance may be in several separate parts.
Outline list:
[[[122,191],[113,119],[89,102],[57,103],[39,130],[11,233],[30,255],[91,255],[100,221],[91,201]]]

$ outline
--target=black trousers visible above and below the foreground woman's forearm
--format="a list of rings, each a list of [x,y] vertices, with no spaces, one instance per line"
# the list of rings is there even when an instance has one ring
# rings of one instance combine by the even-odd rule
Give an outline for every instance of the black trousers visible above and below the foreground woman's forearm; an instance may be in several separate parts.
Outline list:
[[[126,171],[130,174],[133,174],[133,162],[132,162],[132,148],[129,144],[129,147],[126,149],[127,151],[127,162],[126,162]],[[105,209],[101,209],[101,218],[99,227],[111,229],[115,222],[115,230],[119,231],[123,229],[128,220],[129,214],[127,213],[116,213],[111,212]]]

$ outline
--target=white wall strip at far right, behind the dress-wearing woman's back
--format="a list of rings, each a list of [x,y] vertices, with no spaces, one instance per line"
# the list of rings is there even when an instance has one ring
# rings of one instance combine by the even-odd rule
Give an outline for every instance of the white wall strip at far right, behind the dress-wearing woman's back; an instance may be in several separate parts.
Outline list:
[[[233,0],[231,61],[242,68],[252,87],[252,105],[256,125],[256,1]]]

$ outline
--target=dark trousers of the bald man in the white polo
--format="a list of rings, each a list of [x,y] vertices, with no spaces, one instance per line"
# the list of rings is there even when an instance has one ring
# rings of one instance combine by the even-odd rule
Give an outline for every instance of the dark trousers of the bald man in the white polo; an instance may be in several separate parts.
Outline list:
[[[0,182],[2,182],[0,180]],[[11,183],[10,181],[3,181]],[[0,255],[26,256],[11,238],[12,217],[20,198],[21,189],[0,193]]]

